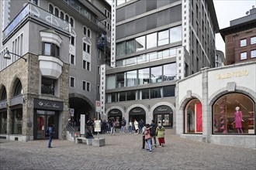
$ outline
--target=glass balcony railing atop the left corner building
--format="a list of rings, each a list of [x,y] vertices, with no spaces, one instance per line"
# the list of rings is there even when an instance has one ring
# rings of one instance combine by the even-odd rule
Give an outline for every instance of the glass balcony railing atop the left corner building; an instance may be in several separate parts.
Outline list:
[[[23,21],[28,17],[33,17],[42,22],[49,23],[50,26],[57,27],[58,29],[63,30],[64,32],[70,32],[71,25],[69,22],[64,21],[63,19],[58,18],[57,16],[39,8],[36,5],[28,3],[22,11],[16,16],[12,22],[4,29],[3,31],[3,40],[6,39]]]

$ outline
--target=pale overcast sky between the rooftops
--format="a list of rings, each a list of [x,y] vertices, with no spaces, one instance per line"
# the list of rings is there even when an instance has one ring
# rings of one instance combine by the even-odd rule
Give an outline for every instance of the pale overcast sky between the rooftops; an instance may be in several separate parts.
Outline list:
[[[220,29],[229,27],[230,21],[245,16],[253,5],[256,8],[255,0],[213,0],[213,3]],[[225,43],[220,33],[216,34],[216,49],[225,53]]]

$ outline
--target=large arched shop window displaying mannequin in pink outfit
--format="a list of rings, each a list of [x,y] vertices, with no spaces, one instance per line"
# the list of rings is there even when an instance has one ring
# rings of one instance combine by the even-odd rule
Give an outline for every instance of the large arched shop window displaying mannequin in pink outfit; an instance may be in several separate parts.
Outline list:
[[[255,134],[254,102],[241,93],[229,93],[213,105],[213,134]]]

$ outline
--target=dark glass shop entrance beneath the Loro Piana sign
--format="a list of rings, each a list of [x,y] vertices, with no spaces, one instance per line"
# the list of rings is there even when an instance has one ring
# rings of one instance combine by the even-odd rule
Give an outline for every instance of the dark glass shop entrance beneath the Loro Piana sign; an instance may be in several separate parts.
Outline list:
[[[54,124],[55,128],[55,134],[54,137],[57,136],[57,124],[56,124],[56,115],[55,111],[49,111],[49,110],[36,110],[36,139],[44,139],[45,133],[47,131],[47,128],[50,126],[50,124]]]

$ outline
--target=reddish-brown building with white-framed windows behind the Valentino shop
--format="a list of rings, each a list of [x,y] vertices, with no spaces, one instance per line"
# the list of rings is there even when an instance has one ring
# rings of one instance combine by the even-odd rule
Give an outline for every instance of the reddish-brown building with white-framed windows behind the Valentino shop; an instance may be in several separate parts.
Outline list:
[[[226,65],[256,59],[256,8],[247,15],[230,21],[230,27],[220,29],[226,44]]]

